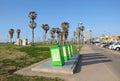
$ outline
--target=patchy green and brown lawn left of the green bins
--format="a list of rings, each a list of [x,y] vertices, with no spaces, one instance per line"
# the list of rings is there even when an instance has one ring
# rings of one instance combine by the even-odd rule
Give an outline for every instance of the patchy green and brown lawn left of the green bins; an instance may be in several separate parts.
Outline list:
[[[13,74],[50,57],[49,46],[16,46],[0,44],[0,81],[62,81],[59,78],[31,77]]]

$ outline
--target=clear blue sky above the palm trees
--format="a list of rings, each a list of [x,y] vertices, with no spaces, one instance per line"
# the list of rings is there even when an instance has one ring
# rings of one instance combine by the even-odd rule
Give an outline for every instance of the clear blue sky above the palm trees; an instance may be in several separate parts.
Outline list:
[[[32,39],[29,27],[30,11],[37,13],[35,22],[35,41],[43,40],[42,24],[51,28],[60,27],[62,22],[69,22],[69,37],[73,38],[80,22],[85,30],[92,30],[92,37],[101,37],[110,33],[120,34],[120,0],[0,0],[0,42],[8,42],[9,29],[15,30],[13,40],[20,37]],[[47,38],[50,38],[49,31]]]

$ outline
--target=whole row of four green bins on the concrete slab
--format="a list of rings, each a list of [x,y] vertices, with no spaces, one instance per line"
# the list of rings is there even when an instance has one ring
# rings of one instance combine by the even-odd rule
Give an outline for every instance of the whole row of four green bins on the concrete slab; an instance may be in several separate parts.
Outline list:
[[[63,66],[73,55],[73,45],[64,44],[50,47],[53,66]]]

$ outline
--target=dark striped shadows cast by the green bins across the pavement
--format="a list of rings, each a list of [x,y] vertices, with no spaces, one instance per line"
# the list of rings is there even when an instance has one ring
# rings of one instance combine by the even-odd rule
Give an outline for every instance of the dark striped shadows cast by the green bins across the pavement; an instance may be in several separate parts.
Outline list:
[[[74,73],[79,73],[82,69],[82,66],[104,63],[104,62],[112,62],[112,60],[108,59],[108,57],[100,53],[83,54],[81,55],[81,58],[78,61]]]

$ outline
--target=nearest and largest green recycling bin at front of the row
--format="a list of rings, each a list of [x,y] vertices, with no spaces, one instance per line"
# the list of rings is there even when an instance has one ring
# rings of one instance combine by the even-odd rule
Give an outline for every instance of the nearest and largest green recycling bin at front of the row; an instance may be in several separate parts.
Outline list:
[[[51,46],[50,53],[53,66],[63,66],[64,59],[59,46]]]

